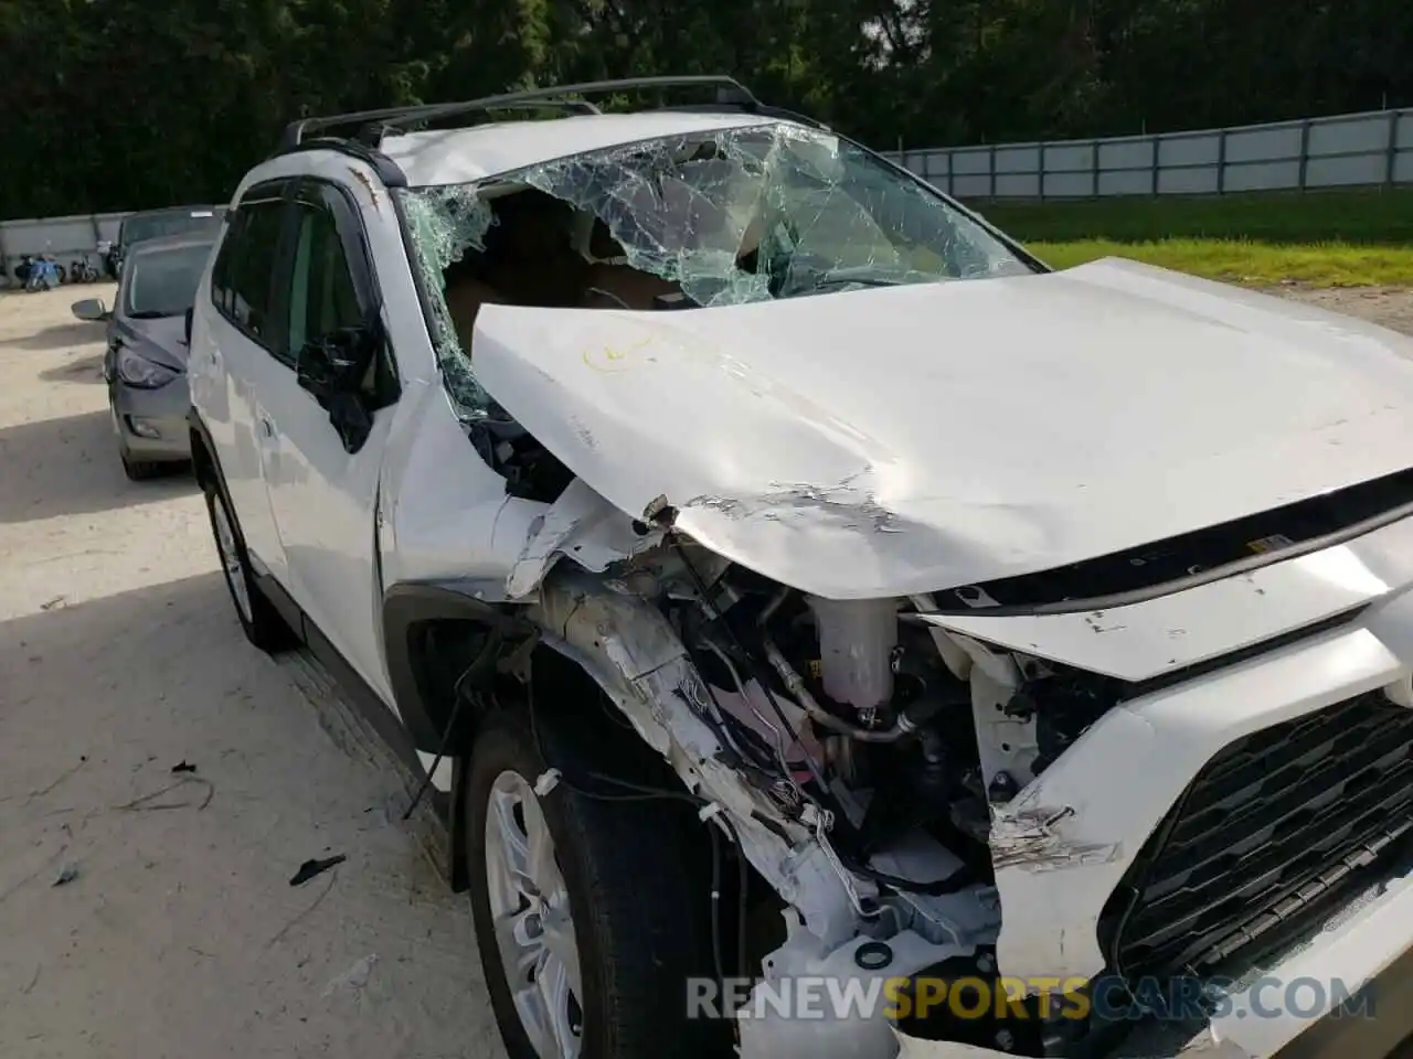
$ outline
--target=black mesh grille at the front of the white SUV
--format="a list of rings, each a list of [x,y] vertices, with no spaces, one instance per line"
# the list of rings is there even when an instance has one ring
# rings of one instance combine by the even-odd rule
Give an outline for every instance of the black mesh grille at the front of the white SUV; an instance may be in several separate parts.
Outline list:
[[[1335,911],[1413,833],[1410,736],[1413,710],[1375,692],[1222,750],[1111,898],[1111,966],[1217,973]]]

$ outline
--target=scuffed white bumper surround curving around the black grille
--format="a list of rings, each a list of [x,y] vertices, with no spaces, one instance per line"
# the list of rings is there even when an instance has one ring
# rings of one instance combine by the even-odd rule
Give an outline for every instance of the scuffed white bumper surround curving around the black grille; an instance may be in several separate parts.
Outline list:
[[[1397,604],[1402,621],[1413,620],[1413,599],[1400,596]],[[1382,620],[1402,624],[1392,613]],[[1003,856],[995,873],[1002,973],[1101,973],[1105,902],[1207,762],[1236,738],[1376,690],[1407,671],[1366,621],[1113,706],[1003,805],[993,815]],[[1065,809],[1072,813],[1060,816]]]

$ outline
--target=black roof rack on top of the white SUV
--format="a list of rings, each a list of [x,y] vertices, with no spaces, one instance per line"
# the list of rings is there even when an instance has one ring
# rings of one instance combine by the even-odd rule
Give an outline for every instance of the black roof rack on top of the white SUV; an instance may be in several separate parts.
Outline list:
[[[424,121],[439,121],[448,117],[490,110],[562,109],[574,113],[598,114],[601,110],[592,103],[584,99],[567,99],[567,96],[612,95],[615,92],[668,88],[715,88],[718,106],[721,107],[753,110],[762,106],[750,89],[735,78],[725,75],[586,80],[579,85],[555,85],[543,89],[527,89],[524,92],[506,92],[499,96],[483,96],[482,99],[472,99],[463,103],[418,103],[403,107],[383,107],[382,110],[359,110],[349,114],[305,117],[285,126],[277,154],[297,150],[311,133],[328,133],[328,130],[341,126],[357,126],[359,138],[369,147],[376,148],[387,133]]]

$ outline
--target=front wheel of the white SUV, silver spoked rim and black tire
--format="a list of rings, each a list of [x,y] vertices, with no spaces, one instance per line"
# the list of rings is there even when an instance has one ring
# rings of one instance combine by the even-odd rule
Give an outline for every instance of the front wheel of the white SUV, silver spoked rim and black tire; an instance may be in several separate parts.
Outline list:
[[[543,746],[514,714],[486,722],[465,785],[476,942],[510,1059],[716,1059],[721,1022],[690,1021],[711,977],[709,873],[664,802],[599,801],[536,782],[595,768],[578,736]]]

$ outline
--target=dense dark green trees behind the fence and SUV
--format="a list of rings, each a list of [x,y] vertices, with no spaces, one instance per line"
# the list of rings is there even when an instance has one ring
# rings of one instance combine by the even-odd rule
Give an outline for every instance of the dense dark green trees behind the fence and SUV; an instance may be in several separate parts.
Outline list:
[[[290,119],[733,73],[879,148],[1413,102],[1393,0],[0,0],[0,216],[226,199]]]

